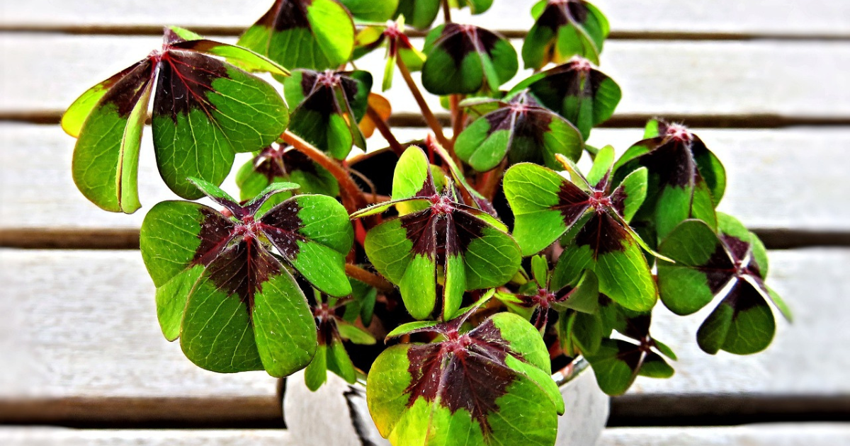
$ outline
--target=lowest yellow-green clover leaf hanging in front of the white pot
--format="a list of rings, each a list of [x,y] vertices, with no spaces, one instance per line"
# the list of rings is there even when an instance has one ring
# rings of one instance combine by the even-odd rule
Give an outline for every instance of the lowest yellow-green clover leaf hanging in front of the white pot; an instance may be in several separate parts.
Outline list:
[[[550,376],[546,344],[512,313],[472,330],[470,313],[422,326],[438,341],[389,347],[369,372],[366,402],[390,443],[553,444],[564,399]],[[400,333],[399,333],[400,334]]]

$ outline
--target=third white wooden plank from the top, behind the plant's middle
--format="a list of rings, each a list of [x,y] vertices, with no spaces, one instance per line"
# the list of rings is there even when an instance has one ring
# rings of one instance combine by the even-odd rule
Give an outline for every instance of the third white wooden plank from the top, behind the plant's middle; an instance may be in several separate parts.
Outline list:
[[[427,134],[425,129],[398,130],[401,140]],[[696,132],[727,168],[723,211],[756,229],[850,230],[850,208],[836,206],[850,190],[850,152],[844,150],[850,148],[850,127]],[[598,129],[591,143],[613,144],[622,153],[642,134],[639,129]],[[145,207],[130,216],[100,211],[77,191],[71,181],[73,145],[58,126],[0,123],[0,233],[135,230],[147,208],[175,198],[156,172],[150,132],[144,135],[139,174]],[[376,137],[369,145],[378,149],[384,143]],[[225,187],[236,192],[232,182]]]

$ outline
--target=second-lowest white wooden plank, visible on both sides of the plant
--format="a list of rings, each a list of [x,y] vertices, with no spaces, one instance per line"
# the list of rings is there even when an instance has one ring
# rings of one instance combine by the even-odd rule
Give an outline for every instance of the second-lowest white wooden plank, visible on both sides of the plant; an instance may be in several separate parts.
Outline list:
[[[845,330],[850,250],[770,256],[770,283],[793,308],[794,325],[780,322],[765,353],[711,357],[694,342],[698,317],[675,318],[660,310],[654,333],[679,355],[677,375],[640,379],[633,395],[850,397],[850,358],[837,354],[850,343]],[[250,398],[277,405],[269,376],[200,370],[176,343],[162,338],[154,287],[138,251],[0,250],[0,279],[0,357],[7,359],[0,369],[0,409],[7,419],[20,416],[27,403],[31,414],[38,413],[38,404],[70,405],[75,411],[63,415],[71,418],[102,414],[100,405],[112,407],[116,398],[128,405],[135,401],[139,408],[131,413],[137,417],[185,416],[144,405],[163,398],[233,398],[219,411]],[[87,403],[74,405],[79,398]],[[199,404],[197,410],[217,410],[209,406]]]

